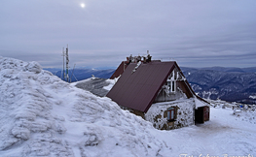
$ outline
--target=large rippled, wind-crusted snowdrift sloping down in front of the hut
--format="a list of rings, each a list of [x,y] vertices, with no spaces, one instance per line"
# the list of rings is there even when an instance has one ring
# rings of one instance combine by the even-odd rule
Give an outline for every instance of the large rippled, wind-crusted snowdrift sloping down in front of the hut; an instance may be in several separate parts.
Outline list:
[[[162,156],[158,130],[37,62],[0,57],[0,156]]]

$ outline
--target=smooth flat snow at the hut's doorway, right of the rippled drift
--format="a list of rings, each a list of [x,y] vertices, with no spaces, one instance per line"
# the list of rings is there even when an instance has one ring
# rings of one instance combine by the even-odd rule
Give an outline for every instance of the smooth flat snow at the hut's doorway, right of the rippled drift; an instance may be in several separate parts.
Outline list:
[[[171,138],[164,139],[161,136],[171,147],[173,156],[256,155],[255,111],[250,112],[249,117],[252,119],[249,121],[242,115],[233,115],[230,109],[211,108],[210,111],[210,121],[169,131]]]

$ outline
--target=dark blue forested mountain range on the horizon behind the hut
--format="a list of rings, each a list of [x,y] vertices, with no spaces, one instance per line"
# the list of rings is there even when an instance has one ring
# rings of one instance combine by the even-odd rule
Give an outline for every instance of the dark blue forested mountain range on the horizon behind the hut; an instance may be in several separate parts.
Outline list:
[[[47,68],[61,78],[61,70]],[[221,99],[228,102],[256,104],[256,67],[251,68],[188,68],[181,67],[194,91],[202,98]],[[75,69],[69,71],[72,81],[91,78],[110,78],[114,69]],[[74,77],[75,76],[75,77]]]

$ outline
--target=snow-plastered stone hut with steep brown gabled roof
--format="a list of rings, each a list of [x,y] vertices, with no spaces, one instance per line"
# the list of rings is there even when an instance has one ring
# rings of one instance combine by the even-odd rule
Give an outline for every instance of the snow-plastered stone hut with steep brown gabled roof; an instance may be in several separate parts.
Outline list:
[[[175,61],[133,60],[122,62],[117,70],[115,77],[121,77],[106,96],[156,128],[209,120],[209,104],[196,95]]]

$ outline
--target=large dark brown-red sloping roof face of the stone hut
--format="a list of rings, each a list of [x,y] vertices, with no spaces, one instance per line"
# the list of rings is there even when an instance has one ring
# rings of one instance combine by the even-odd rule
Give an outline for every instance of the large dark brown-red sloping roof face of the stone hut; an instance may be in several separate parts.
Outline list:
[[[107,94],[117,104],[147,112],[156,99],[176,62],[142,63],[132,72],[136,63],[130,63],[117,83]]]

